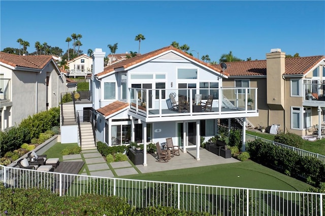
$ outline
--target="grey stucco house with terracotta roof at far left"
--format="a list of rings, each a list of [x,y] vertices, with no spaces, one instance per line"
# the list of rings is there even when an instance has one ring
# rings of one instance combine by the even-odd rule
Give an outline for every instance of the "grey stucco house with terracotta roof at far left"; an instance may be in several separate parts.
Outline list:
[[[29,115],[59,106],[66,77],[52,56],[18,56],[0,52],[1,129]]]

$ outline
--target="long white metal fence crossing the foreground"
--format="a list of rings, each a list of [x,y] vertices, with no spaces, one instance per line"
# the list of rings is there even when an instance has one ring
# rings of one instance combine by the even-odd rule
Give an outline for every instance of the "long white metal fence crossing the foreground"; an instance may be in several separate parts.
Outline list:
[[[1,181],[10,188],[42,188],[60,196],[85,193],[124,198],[136,207],[169,206],[213,215],[323,215],[325,194],[261,190],[60,174],[7,166]]]

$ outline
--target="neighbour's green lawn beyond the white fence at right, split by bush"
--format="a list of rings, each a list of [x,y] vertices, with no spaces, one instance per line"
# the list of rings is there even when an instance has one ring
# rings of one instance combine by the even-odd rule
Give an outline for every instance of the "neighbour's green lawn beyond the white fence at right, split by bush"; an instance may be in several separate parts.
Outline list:
[[[274,136],[272,134],[267,133],[258,133],[258,132],[252,132],[252,131],[246,131],[247,134],[258,136],[267,140],[274,140]],[[325,155],[325,139],[316,140],[316,141],[308,141],[305,140],[303,146],[301,149],[304,149],[306,151],[318,153],[321,155]]]

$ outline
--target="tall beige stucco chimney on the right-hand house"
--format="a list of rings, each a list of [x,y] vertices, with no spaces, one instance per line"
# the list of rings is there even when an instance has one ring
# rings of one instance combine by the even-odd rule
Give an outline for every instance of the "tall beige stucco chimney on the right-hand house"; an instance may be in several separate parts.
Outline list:
[[[285,53],[281,49],[271,49],[266,54],[267,103],[273,110],[284,110]]]

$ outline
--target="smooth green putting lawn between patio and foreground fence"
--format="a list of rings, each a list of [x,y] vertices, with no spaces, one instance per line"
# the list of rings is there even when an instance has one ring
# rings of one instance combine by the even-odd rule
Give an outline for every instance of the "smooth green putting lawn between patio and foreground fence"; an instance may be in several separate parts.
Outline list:
[[[253,161],[151,172],[123,178],[289,191],[306,191],[312,187]]]

